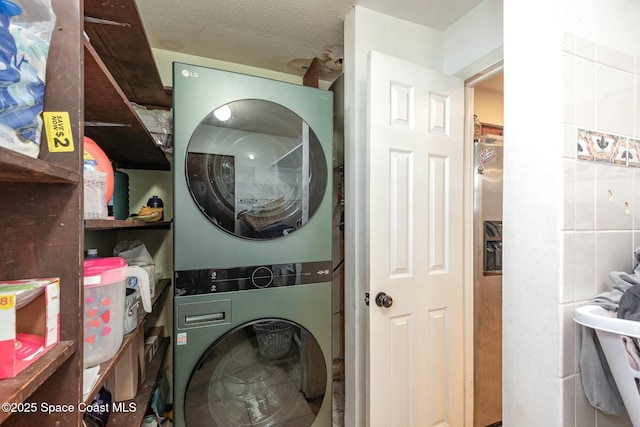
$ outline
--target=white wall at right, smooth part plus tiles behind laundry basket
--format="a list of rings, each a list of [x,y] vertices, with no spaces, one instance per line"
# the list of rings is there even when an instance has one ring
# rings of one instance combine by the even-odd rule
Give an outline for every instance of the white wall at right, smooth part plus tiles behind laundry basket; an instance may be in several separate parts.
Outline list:
[[[637,137],[638,16],[622,0],[505,1],[505,425],[629,425],[586,402],[572,318],[640,244],[640,170],[576,155],[579,128]]]

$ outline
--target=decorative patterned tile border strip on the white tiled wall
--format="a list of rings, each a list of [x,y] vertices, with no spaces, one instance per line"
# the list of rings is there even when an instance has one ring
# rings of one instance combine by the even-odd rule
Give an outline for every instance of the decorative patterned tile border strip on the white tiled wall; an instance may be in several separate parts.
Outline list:
[[[640,140],[638,139],[578,129],[577,142],[576,156],[578,160],[640,167]]]

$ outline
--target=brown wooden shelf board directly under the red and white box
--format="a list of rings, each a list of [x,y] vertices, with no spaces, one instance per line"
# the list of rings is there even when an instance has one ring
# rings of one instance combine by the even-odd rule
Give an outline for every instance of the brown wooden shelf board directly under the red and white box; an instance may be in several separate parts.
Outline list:
[[[0,380],[0,401],[24,402],[75,353],[76,349],[76,341],[61,341],[14,378]],[[9,415],[10,412],[0,411],[0,423]]]

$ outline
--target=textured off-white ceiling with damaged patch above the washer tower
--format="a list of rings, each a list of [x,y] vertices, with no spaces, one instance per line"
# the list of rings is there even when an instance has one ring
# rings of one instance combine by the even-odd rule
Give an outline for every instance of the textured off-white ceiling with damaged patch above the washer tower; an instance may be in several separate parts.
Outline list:
[[[314,57],[335,77],[356,4],[446,29],[481,0],[137,0],[152,47],[304,75]]]

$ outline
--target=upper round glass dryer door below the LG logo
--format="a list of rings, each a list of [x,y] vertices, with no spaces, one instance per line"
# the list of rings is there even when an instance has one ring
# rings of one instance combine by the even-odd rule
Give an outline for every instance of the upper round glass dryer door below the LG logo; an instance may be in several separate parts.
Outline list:
[[[313,129],[291,110],[259,99],[225,104],[196,127],[187,184],[202,213],[225,232],[275,239],[303,227],[327,185]]]

